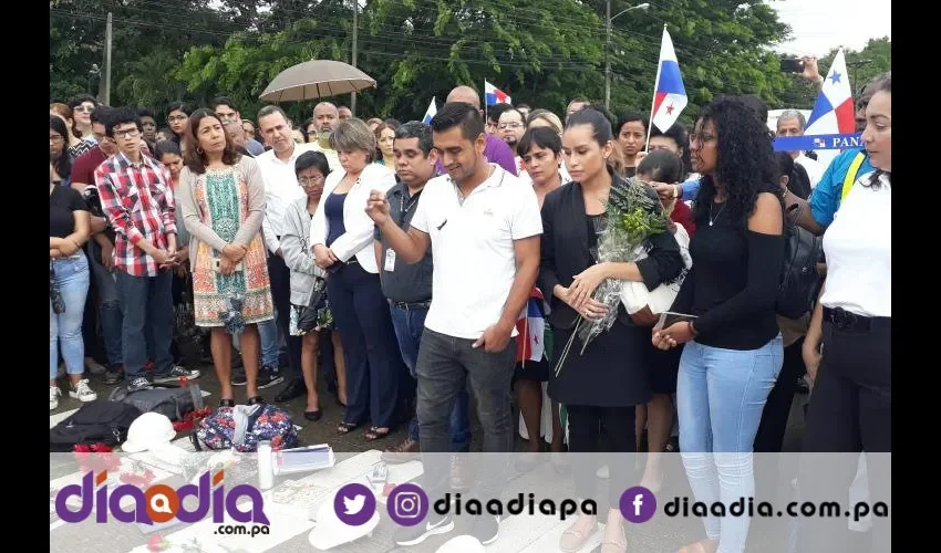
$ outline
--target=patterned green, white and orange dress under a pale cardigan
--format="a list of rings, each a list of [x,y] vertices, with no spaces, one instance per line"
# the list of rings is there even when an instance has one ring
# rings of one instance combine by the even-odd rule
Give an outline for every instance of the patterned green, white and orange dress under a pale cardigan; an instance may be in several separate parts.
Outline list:
[[[227,243],[235,240],[248,217],[248,184],[240,167],[207,168],[196,176],[194,195],[199,218]],[[225,326],[229,300],[241,298],[245,324],[273,319],[271,282],[261,233],[249,242],[248,253],[231,274],[223,274],[216,263],[221,252],[199,241],[193,264],[193,300],[198,326]]]

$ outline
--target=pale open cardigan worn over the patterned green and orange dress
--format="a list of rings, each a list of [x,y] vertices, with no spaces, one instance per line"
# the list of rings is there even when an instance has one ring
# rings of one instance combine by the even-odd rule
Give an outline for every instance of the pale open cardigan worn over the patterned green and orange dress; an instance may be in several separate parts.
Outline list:
[[[265,181],[261,179],[258,164],[250,157],[242,156],[238,161],[238,169],[248,185],[248,218],[239,226],[232,242],[248,246],[261,231],[261,221],[265,219]],[[199,242],[211,246],[217,255],[228,246],[228,242],[205,225],[199,217],[199,205],[196,202],[196,178],[197,175],[194,175],[189,167],[184,167],[179,174],[179,191],[177,192],[183,223],[190,234],[189,259],[193,267],[196,267],[196,251]]]

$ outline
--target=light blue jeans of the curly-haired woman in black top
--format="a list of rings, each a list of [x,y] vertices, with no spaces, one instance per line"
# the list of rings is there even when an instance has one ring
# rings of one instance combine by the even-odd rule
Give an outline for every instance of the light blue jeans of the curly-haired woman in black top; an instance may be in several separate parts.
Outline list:
[[[696,501],[726,505],[755,493],[752,448],[768,394],[784,363],[780,334],[751,351],[690,342],[680,358],[680,450]],[[704,519],[717,553],[745,551],[747,517]]]

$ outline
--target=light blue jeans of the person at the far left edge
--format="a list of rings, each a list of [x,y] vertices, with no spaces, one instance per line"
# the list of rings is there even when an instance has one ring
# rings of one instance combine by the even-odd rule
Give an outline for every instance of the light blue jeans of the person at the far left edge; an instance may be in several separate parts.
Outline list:
[[[85,343],[82,341],[82,321],[85,298],[89,295],[89,260],[82,250],[75,255],[52,261],[55,282],[65,304],[65,312],[55,314],[49,301],[49,379],[59,373],[59,348],[70,375],[85,372]]]

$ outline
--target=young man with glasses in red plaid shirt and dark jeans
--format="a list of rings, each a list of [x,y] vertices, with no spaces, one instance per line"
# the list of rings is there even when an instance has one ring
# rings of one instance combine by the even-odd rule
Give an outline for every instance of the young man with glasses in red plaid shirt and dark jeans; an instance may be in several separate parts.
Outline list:
[[[127,392],[151,388],[151,382],[197,378],[198,371],[174,365],[170,353],[176,265],[173,180],[166,167],[142,154],[141,118],[134,109],[112,112],[105,132],[117,144],[117,154],[95,169],[95,187],[116,231],[114,272],[127,307],[122,327]],[[148,337],[155,357],[152,376],[144,368]]]

